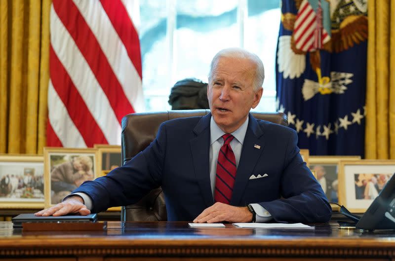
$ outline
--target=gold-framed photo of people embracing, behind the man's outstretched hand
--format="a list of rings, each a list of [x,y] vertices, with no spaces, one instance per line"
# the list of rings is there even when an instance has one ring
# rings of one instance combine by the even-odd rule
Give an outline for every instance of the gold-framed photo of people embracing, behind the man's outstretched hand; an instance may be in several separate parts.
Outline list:
[[[97,149],[44,148],[45,208],[97,177]]]

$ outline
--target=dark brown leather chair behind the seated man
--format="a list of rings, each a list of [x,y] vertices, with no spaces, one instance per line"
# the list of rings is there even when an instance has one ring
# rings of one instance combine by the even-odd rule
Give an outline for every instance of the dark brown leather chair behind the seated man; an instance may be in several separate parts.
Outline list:
[[[184,110],[167,112],[144,112],[128,114],[122,118],[122,165],[145,149],[155,139],[159,125],[170,119],[204,116],[210,110]],[[263,119],[288,126],[282,112],[252,112],[257,119]],[[166,221],[164,196],[160,187],[152,190],[139,202],[122,207],[122,221]]]

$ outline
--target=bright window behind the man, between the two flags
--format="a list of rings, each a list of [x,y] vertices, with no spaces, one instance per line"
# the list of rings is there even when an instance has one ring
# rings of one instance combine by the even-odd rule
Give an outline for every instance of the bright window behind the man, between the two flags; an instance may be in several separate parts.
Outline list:
[[[276,111],[275,60],[280,0],[140,0],[138,26],[146,111],[170,110],[178,80],[207,82],[212,57],[227,47],[256,53],[265,66],[256,111]]]

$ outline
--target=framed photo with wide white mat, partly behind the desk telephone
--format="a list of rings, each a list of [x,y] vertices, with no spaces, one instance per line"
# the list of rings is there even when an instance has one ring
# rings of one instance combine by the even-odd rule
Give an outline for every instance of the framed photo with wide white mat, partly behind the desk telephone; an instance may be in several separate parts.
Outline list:
[[[341,160],[339,204],[364,213],[395,172],[395,160]]]

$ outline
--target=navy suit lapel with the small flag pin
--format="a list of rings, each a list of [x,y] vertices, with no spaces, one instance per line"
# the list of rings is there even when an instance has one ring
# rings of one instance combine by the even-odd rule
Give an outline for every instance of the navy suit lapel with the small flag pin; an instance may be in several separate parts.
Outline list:
[[[254,174],[252,172],[263,151],[263,148],[265,147],[263,139],[260,139],[262,135],[263,131],[258,122],[251,114],[249,114],[248,128],[245,133],[240,161],[237,167],[236,181],[233,187],[231,205],[238,206],[240,204],[240,199],[244,194],[245,186],[247,186],[249,177]],[[260,149],[255,148],[255,145],[260,146]]]

